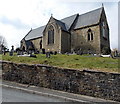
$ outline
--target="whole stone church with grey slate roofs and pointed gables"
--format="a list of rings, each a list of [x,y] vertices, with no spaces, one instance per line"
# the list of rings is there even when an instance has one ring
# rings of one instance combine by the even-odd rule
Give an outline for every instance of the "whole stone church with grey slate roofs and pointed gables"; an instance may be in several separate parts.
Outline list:
[[[57,53],[110,53],[109,26],[104,7],[31,29],[21,40],[21,49]]]

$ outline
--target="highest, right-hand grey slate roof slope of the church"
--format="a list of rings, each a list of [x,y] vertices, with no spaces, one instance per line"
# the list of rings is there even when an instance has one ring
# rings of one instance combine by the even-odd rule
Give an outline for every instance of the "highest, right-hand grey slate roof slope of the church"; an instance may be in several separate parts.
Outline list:
[[[79,15],[74,29],[99,23],[101,13],[102,13],[102,8],[99,8],[99,9],[87,12],[85,14]]]

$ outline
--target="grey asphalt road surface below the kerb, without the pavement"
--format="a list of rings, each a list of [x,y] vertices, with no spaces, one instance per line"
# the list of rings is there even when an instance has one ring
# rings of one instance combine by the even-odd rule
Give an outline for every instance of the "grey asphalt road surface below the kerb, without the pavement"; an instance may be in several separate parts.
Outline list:
[[[64,99],[52,98],[25,91],[2,87],[3,102],[66,102]]]

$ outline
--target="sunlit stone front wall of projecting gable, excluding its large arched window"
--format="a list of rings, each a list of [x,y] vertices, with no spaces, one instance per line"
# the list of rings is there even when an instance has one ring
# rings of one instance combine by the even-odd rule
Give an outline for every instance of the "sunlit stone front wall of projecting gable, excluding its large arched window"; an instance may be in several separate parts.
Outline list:
[[[54,44],[48,44],[48,27],[52,25],[54,27]],[[61,52],[61,28],[55,23],[53,19],[46,26],[45,31],[43,32],[43,48],[46,52]]]

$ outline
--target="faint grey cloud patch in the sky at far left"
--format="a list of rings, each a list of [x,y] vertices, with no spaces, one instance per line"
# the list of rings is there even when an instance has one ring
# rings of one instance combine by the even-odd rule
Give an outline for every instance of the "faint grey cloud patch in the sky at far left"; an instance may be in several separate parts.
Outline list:
[[[12,25],[17,29],[30,28],[29,25],[24,24],[20,19],[9,19],[6,16],[0,18],[0,22],[7,25]]]

